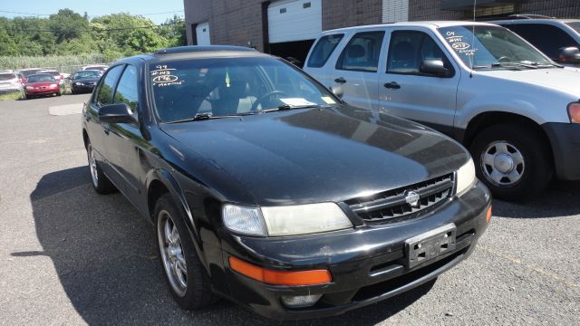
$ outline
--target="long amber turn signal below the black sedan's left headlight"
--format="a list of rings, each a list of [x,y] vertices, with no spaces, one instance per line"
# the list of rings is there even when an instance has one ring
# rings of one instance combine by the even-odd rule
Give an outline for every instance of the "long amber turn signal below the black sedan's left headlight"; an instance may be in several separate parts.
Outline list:
[[[280,272],[248,264],[232,256],[229,257],[229,266],[237,273],[273,285],[315,285],[333,280],[327,270]]]

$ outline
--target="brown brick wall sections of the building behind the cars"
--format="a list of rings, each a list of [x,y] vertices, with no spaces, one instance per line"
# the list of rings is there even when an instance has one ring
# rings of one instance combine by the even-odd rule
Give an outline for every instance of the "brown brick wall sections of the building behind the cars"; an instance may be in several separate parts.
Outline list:
[[[184,0],[188,43],[193,42],[192,24],[209,22],[213,44],[255,46],[265,51],[262,33],[264,0]],[[268,2],[266,2],[267,5]],[[409,20],[470,20],[469,11],[440,9],[441,0],[409,0]],[[580,0],[522,0],[516,14],[546,14],[580,17]],[[323,30],[360,24],[382,23],[382,0],[323,0]]]

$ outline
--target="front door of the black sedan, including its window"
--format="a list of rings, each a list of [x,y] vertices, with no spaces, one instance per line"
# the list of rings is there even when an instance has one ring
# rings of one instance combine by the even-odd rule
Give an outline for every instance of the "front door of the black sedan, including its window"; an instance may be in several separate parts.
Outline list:
[[[112,168],[125,184],[125,196],[135,206],[143,207],[140,205],[142,200],[140,194],[144,187],[144,172],[140,154],[142,154],[141,146],[147,143],[147,140],[143,139],[140,132],[138,77],[138,68],[127,64],[113,93],[113,103],[129,105],[135,122],[110,123],[103,142]]]

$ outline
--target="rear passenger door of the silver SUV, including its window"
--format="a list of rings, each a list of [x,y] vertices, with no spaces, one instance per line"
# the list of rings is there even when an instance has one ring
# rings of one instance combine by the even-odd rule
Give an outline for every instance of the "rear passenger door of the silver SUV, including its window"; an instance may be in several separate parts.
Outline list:
[[[334,66],[333,88],[341,88],[343,101],[370,110],[379,106],[379,65],[385,31],[353,34]]]

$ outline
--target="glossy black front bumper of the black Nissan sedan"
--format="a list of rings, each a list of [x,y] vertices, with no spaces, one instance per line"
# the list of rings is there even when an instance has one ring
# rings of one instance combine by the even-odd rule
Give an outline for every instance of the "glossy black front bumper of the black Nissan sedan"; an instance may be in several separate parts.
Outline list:
[[[299,238],[236,236],[223,244],[228,293],[222,294],[276,320],[333,316],[380,302],[436,278],[467,258],[488,226],[486,212],[490,204],[488,189],[478,182],[462,197],[449,198],[425,216],[409,221]],[[407,268],[405,241],[449,223],[457,227],[455,250]],[[231,270],[230,255],[278,271],[328,269],[333,281],[312,286],[260,283]],[[307,294],[323,297],[308,308],[290,309],[281,302],[283,295]]]

